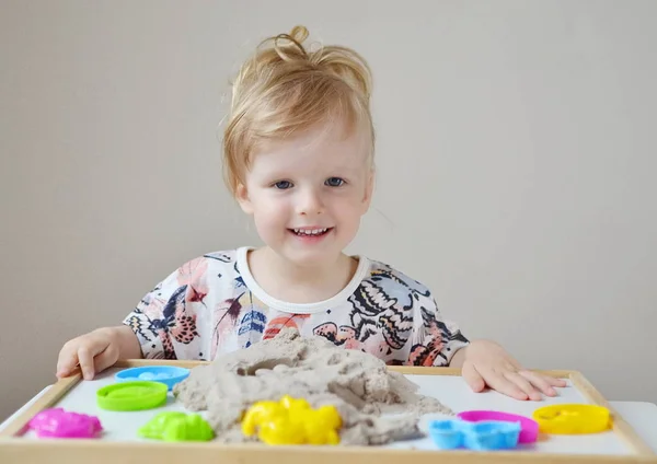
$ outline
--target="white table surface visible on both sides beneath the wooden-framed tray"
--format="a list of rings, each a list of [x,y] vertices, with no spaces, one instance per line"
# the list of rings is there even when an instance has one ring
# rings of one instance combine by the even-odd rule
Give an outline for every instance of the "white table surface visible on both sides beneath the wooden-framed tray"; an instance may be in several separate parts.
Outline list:
[[[19,414],[30,407],[38,399],[51,385],[46,386],[30,402],[23,405],[4,422],[0,424],[2,430],[9,422]],[[654,403],[643,402],[610,402],[613,407],[623,418],[634,428],[636,433],[657,453],[657,405]]]

